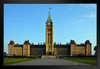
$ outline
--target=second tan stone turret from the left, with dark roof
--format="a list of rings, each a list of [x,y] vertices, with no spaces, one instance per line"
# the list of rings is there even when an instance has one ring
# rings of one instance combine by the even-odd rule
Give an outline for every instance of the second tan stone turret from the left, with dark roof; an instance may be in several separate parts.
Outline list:
[[[30,56],[30,43],[29,40],[23,44],[23,56]]]

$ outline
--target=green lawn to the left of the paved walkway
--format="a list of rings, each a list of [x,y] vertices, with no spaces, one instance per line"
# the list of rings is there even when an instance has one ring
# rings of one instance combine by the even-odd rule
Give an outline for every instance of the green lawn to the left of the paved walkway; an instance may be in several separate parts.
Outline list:
[[[36,59],[38,58],[4,58],[4,65],[19,63],[29,60],[36,60]]]

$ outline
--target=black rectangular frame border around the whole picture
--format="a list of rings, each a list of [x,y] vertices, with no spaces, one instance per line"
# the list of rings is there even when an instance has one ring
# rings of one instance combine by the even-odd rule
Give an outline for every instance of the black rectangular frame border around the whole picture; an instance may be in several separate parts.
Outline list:
[[[1,4],[0,4],[0,68],[43,68],[43,69],[99,69],[99,65],[100,65],[100,30],[99,30],[99,23],[100,23],[100,20],[99,20],[99,8],[100,6],[98,6],[98,1],[97,0],[1,0],[0,1]],[[84,65],[78,65],[78,66],[75,66],[75,65],[68,65],[68,66],[3,66],[3,47],[4,47],[4,4],[68,4],[68,3],[95,3],[97,4],[97,65],[96,66],[84,66]]]

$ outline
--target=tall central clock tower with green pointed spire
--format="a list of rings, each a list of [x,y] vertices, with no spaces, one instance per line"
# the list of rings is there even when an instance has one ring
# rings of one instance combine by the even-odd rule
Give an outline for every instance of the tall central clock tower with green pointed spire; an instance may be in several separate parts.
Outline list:
[[[53,46],[53,22],[50,17],[50,12],[48,13],[48,19],[46,22],[46,55],[54,54]]]

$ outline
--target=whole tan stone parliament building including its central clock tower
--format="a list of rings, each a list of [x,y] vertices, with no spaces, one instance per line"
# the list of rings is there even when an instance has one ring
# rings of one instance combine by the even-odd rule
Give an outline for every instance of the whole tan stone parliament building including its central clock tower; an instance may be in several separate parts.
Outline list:
[[[76,55],[91,56],[92,44],[86,40],[84,44],[76,44],[71,40],[68,44],[53,44],[53,22],[48,13],[46,22],[46,44],[30,44],[29,40],[25,41],[22,45],[15,44],[10,41],[8,44],[9,56],[41,56],[41,55],[61,55],[61,56],[76,56]]]

